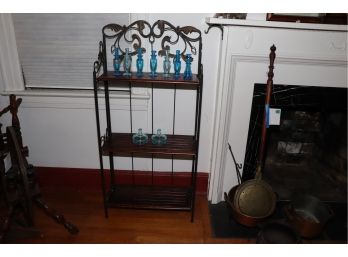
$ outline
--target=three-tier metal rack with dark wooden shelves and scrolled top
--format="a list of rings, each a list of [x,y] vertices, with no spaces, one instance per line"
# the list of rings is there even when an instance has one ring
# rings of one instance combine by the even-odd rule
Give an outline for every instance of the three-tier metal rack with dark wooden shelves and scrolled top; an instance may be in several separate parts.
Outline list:
[[[103,41],[99,43],[98,60],[94,62],[93,82],[94,82],[94,101],[97,123],[97,137],[100,161],[101,186],[104,199],[105,216],[108,217],[109,207],[121,208],[140,208],[140,209],[165,209],[165,210],[186,210],[191,211],[191,222],[194,220],[195,191],[197,177],[197,161],[199,148],[199,132],[202,105],[203,90],[203,65],[201,63],[202,37],[201,31],[192,26],[175,27],[167,21],[158,20],[153,25],[147,21],[138,20],[129,26],[118,24],[108,24],[102,29]],[[120,52],[122,57],[125,56],[125,48],[121,47],[121,42],[130,45],[129,54],[136,55],[141,48],[145,53],[146,49],[142,41],[147,40],[151,48],[155,41],[160,42],[159,55],[164,56],[169,52],[169,58],[174,58],[174,50],[171,46],[181,47],[181,60],[186,61],[187,53],[190,53],[193,60],[198,62],[197,74],[192,74],[192,78],[184,79],[183,74],[179,77],[164,76],[158,72],[157,76],[151,76],[150,73],[144,72],[142,76],[132,75],[115,75],[114,71],[108,71],[107,65],[107,42],[111,40],[112,54],[115,49]],[[124,45],[124,44],[123,44]],[[171,52],[172,51],[172,52]],[[168,54],[167,54],[168,55]],[[171,74],[172,75],[172,74]],[[127,85],[126,87],[124,87]],[[152,91],[152,134],[153,127],[153,90],[156,88],[173,89],[174,111],[173,111],[173,133],[167,135],[167,143],[164,145],[154,145],[150,141],[144,145],[135,145],[132,142],[133,132],[133,108],[132,108],[132,88],[148,87]],[[122,88],[121,88],[122,87]],[[130,114],[130,131],[129,133],[116,133],[112,130],[110,114],[110,89],[119,88],[129,94],[129,114]],[[126,88],[126,89],[124,89]],[[192,121],[194,125],[194,135],[175,134],[176,120],[176,94],[177,89],[188,89],[196,91],[195,118]],[[105,99],[105,114],[101,112],[101,103],[98,100],[98,93],[103,94]],[[104,108],[104,105],[103,105]],[[106,115],[106,132],[101,132],[101,115]],[[114,123],[115,124],[115,123]],[[115,170],[114,156],[128,156],[132,159],[132,169],[129,171],[131,176],[138,172],[134,170],[133,158],[145,157],[152,159],[152,170],[149,171],[151,182],[147,184],[132,183],[123,184],[118,181],[118,171]],[[109,157],[110,169],[104,168],[103,158]],[[156,184],[154,182],[153,160],[154,158],[165,159],[188,159],[192,161],[192,170],[190,172],[190,182],[187,185],[169,185]],[[173,163],[173,161],[172,161]],[[175,176],[172,164],[170,176]],[[110,185],[109,182],[110,181]],[[173,181],[173,179],[172,179]]]

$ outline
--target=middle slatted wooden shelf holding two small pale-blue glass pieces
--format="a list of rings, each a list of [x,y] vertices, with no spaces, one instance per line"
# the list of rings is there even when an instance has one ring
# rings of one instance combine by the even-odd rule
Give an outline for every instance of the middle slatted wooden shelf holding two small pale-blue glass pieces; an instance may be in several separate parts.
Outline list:
[[[139,146],[132,143],[130,133],[112,133],[111,140],[107,138],[102,146],[103,154],[178,159],[192,159],[196,155],[197,142],[193,136],[167,135],[166,145],[153,145],[151,134],[148,136],[149,141]]]

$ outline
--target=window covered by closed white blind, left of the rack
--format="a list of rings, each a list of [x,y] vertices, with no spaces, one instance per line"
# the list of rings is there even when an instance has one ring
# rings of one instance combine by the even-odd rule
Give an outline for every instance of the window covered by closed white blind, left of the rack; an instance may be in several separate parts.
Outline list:
[[[130,14],[12,14],[26,88],[92,89],[103,26]]]

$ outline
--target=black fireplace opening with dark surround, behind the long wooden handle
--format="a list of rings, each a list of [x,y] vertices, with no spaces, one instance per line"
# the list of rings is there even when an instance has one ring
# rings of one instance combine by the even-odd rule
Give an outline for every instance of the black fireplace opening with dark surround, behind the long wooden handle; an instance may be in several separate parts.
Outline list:
[[[243,180],[255,175],[265,89],[255,84]],[[281,114],[267,130],[263,179],[281,200],[296,192],[346,203],[347,88],[274,85],[270,107]]]

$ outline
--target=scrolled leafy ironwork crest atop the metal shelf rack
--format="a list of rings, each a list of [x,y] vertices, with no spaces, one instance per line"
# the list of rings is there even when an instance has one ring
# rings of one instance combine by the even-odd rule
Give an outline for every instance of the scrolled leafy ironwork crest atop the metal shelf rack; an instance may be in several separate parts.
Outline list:
[[[130,55],[136,55],[138,48],[141,48],[143,53],[146,52],[146,49],[142,45],[142,39],[147,39],[151,44],[151,48],[156,39],[161,39],[161,49],[158,51],[158,54],[161,56],[165,55],[165,50],[170,50],[171,45],[176,45],[179,41],[182,41],[184,45],[180,52],[183,60],[186,58],[185,53],[187,50],[189,50],[192,55],[197,55],[197,49],[193,43],[199,42],[199,48],[201,48],[202,40],[201,31],[199,29],[192,26],[175,27],[164,20],[158,20],[152,26],[144,20],[135,21],[129,26],[108,24],[103,27],[102,32],[104,40],[115,40],[111,46],[111,53],[114,53],[117,47],[120,49],[121,55],[125,53],[125,50],[122,49],[120,45],[121,41],[132,45],[129,49],[129,53]],[[169,57],[173,58],[174,53],[170,53]]]

